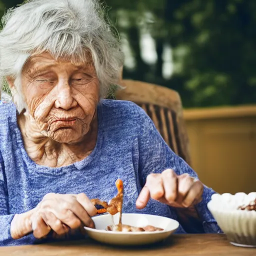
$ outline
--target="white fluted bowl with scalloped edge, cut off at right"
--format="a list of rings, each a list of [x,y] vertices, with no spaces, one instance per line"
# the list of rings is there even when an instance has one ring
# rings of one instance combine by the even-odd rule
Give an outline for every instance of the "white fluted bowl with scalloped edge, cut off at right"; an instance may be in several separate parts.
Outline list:
[[[238,210],[256,198],[249,194],[213,194],[207,206],[227,239],[236,246],[256,247],[256,211]]]

